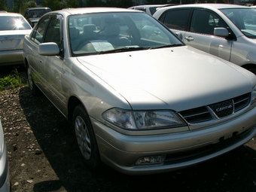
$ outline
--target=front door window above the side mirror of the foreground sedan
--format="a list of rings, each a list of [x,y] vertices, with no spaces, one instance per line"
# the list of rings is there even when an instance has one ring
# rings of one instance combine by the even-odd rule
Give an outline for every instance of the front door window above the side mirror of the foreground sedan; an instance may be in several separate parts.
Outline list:
[[[60,35],[60,20],[59,17],[52,17],[45,33],[44,42],[54,42],[59,45],[61,44]]]

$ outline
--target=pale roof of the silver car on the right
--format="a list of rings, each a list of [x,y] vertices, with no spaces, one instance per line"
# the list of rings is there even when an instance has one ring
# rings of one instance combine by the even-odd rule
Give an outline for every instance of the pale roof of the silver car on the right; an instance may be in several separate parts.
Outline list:
[[[187,5],[174,5],[171,7],[160,8],[159,10],[167,10],[170,8],[209,8],[209,9],[222,9],[222,8],[250,8],[244,5],[233,4],[218,4],[218,3],[202,3],[202,4],[187,4]]]

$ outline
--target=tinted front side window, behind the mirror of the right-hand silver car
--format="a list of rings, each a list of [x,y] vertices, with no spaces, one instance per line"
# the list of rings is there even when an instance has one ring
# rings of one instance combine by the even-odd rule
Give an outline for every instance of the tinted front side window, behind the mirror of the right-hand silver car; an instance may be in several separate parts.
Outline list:
[[[227,24],[217,14],[206,10],[194,10],[190,32],[213,35],[215,27],[227,27]]]

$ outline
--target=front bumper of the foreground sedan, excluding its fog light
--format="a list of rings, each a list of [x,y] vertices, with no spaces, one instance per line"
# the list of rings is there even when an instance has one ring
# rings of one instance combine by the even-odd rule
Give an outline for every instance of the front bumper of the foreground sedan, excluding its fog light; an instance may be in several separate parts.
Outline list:
[[[213,126],[181,133],[128,136],[91,118],[104,163],[124,174],[169,172],[192,166],[248,142],[256,134],[256,108]],[[138,166],[141,157],[163,155],[163,163]]]

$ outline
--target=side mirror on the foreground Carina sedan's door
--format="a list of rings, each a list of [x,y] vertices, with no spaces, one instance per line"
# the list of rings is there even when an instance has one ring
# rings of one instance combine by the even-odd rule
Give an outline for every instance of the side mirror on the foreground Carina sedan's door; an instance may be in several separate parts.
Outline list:
[[[59,55],[59,46],[56,43],[42,43],[39,44],[38,53],[44,56],[56,56]]]

